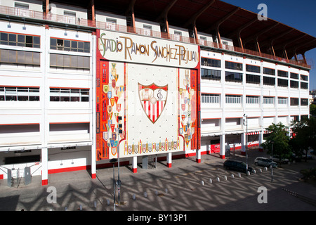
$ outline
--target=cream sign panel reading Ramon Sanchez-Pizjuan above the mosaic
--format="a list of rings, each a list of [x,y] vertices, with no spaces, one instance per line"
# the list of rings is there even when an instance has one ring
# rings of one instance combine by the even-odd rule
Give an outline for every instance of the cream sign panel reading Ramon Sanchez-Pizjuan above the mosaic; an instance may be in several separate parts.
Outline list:
[[[133,34],[100,32],[98,49],[109,60],[195,68],[199,63],[197,45]]]

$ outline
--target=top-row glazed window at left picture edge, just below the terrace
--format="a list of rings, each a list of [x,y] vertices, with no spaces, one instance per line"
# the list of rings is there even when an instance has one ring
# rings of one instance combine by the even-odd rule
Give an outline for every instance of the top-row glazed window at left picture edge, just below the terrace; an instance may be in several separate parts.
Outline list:
[[[0,32],[0,44],[39,49],[40,37],[26,34],[11,34]]]

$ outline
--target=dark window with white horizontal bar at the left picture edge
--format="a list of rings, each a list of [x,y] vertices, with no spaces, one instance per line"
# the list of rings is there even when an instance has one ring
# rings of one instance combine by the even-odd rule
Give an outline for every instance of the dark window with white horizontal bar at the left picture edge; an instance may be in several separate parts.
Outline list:
[[[39,87],[0,86],[0,101],[39,101]]]

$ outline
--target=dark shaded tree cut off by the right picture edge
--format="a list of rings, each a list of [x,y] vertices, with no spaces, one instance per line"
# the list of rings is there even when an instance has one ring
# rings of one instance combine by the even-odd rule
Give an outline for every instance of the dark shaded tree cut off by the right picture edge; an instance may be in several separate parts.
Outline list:
[[[307,159],[308,149],[316,149],[316,119],[315,117],[303,117],[301,121],[294,121],[291,124],[294,137],[291,146],[298,156],[303,155]]]

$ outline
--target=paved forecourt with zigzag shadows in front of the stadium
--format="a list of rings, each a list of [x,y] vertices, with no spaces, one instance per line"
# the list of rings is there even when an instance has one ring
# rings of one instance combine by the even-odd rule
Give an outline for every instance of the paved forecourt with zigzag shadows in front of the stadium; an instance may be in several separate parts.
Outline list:
[[[131,172],[131,165],[120,167],[120,200],[116,211],[189,212],[189,211],[315,211],[316,184],[302,181],[300,170],[316,167],[316,160],[281,165],[271,170],[254,165],[265,152],[251,149],[248,162],[256,169],[249,176],[223,168],[228,158],[245,161],[244,155],[220,159],[218,154],[157,162],[155,169]],[[262,172],[260,171],[262,170]],[[232,177],[233,175],[233,177]],[[0,211],[113,211],[113,168],[98,169],[96,179],[89,171],[49,174],[48,185],[41,186],[41,176],[18,188],[0,181]],[[117,167],[115,167],[117,179]],[[266,195],[261,194],[266,188]],[[259,188],[259,190],[258,190]],[[52,191],[53,190],[53,191]],[[56,193],[55,198],[53,193]],[[264,193],[264,192],[263,192]],[[116,190],[116,200],[118,198]],[[258,199],[267,203],[258,203]],[[55,201],[54,201],[55,200]]]

